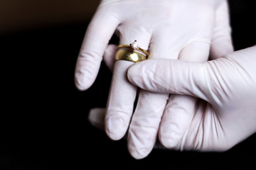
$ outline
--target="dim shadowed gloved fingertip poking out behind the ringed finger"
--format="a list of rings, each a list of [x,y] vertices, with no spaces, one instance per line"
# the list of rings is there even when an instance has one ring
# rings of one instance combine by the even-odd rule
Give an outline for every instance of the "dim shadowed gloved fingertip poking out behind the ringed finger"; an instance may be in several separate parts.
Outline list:
[[[92,108],[89,112],[88,120],[96,128],[104,130],[105,115],[106,108]]]

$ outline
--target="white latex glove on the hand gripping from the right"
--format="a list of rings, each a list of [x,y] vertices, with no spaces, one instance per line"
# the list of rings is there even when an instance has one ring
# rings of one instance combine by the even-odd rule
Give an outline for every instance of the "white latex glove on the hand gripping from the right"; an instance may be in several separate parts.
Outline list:
[[[204,63],[147,60],[132,66],[128,77],[147,91],[202,98],[184,125],[186,133],[172,147],[223,151],[256,132],[255,63],[256,46]],[[180,127],[183,117],[177,116],[170,120],[164,115],[161,123]],[[172,132],[160,127],[160,135]]]

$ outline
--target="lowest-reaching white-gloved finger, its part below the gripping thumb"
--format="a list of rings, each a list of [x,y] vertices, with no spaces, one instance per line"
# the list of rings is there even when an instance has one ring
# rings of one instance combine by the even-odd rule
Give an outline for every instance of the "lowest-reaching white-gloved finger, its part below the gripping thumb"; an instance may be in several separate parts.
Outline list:
[[[153,94],[141,90],[137,108],[132,116],[128,132],[128,149],[132,157],[146,157],[156,142],[161,115],[169,94]]]

